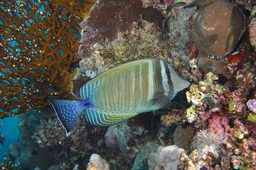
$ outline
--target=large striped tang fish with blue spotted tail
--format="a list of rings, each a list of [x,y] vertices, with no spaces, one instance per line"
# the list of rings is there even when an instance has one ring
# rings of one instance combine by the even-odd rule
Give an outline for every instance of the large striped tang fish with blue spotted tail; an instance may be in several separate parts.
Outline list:
[[[67,133],[84,111],[87,124],[111,126],[139,113],[168,108],[178,91],[189,86],[162,59],[128,62],[105,71],[78,91],[82,100],[49,99]]]

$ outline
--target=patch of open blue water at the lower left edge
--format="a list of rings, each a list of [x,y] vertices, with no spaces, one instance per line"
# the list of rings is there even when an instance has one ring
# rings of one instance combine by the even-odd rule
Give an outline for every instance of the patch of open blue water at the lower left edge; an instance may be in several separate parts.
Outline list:
[[[3,161],[3,157],[6,155],[6,152],[9,152],[9,145],[17,144],[19,137],[17,118],[18,115],[0,119],[0,124],[3,125],[0,127],[0,133],[4,134],[3,146],[0,145],[0,162]]]

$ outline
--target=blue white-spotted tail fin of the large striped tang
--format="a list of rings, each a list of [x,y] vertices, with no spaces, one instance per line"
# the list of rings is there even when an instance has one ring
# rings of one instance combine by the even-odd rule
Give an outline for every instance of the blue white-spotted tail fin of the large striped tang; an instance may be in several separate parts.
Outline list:
[[[76,119],[84,109],[92,106],[89,99],[85,100],[59,100],[49,99],[61,125],[67,133],[70,132]]]

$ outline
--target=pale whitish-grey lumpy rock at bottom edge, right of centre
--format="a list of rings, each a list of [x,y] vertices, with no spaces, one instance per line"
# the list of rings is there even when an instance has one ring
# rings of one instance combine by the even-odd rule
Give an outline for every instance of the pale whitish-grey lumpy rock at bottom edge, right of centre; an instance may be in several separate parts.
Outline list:
[[[180,153],[184,149],[171,146],[160,146],[157,153],[150,153],[148,159],[149,170],[177,170]]]

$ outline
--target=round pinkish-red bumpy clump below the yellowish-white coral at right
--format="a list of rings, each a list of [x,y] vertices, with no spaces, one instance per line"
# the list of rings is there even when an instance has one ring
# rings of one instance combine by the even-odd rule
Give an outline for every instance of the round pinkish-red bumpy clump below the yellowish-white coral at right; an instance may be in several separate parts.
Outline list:
[[[227,116],[214,115],[211,119],[208,119],[208,123],[209,132],[215,133],[218,136],[224,136],[230,130]]]

